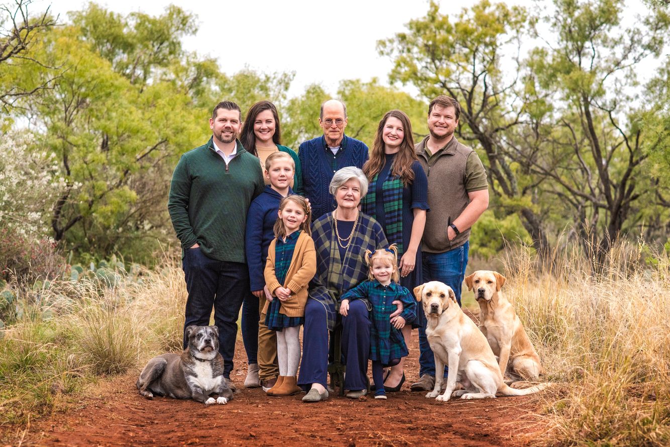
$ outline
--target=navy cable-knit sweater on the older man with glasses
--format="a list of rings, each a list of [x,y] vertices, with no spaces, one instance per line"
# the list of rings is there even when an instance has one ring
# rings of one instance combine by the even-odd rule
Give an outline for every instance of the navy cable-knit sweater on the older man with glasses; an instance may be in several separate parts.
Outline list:
[[[302,168],[302,190],[312,204],[312,221],[335,209],[335,198],[328,192],[336,170],[346,166],[363,168],[368,147],[362,141],[344,135],[340,150],[333,155],[321,135],[302,143],[297,151]]]

